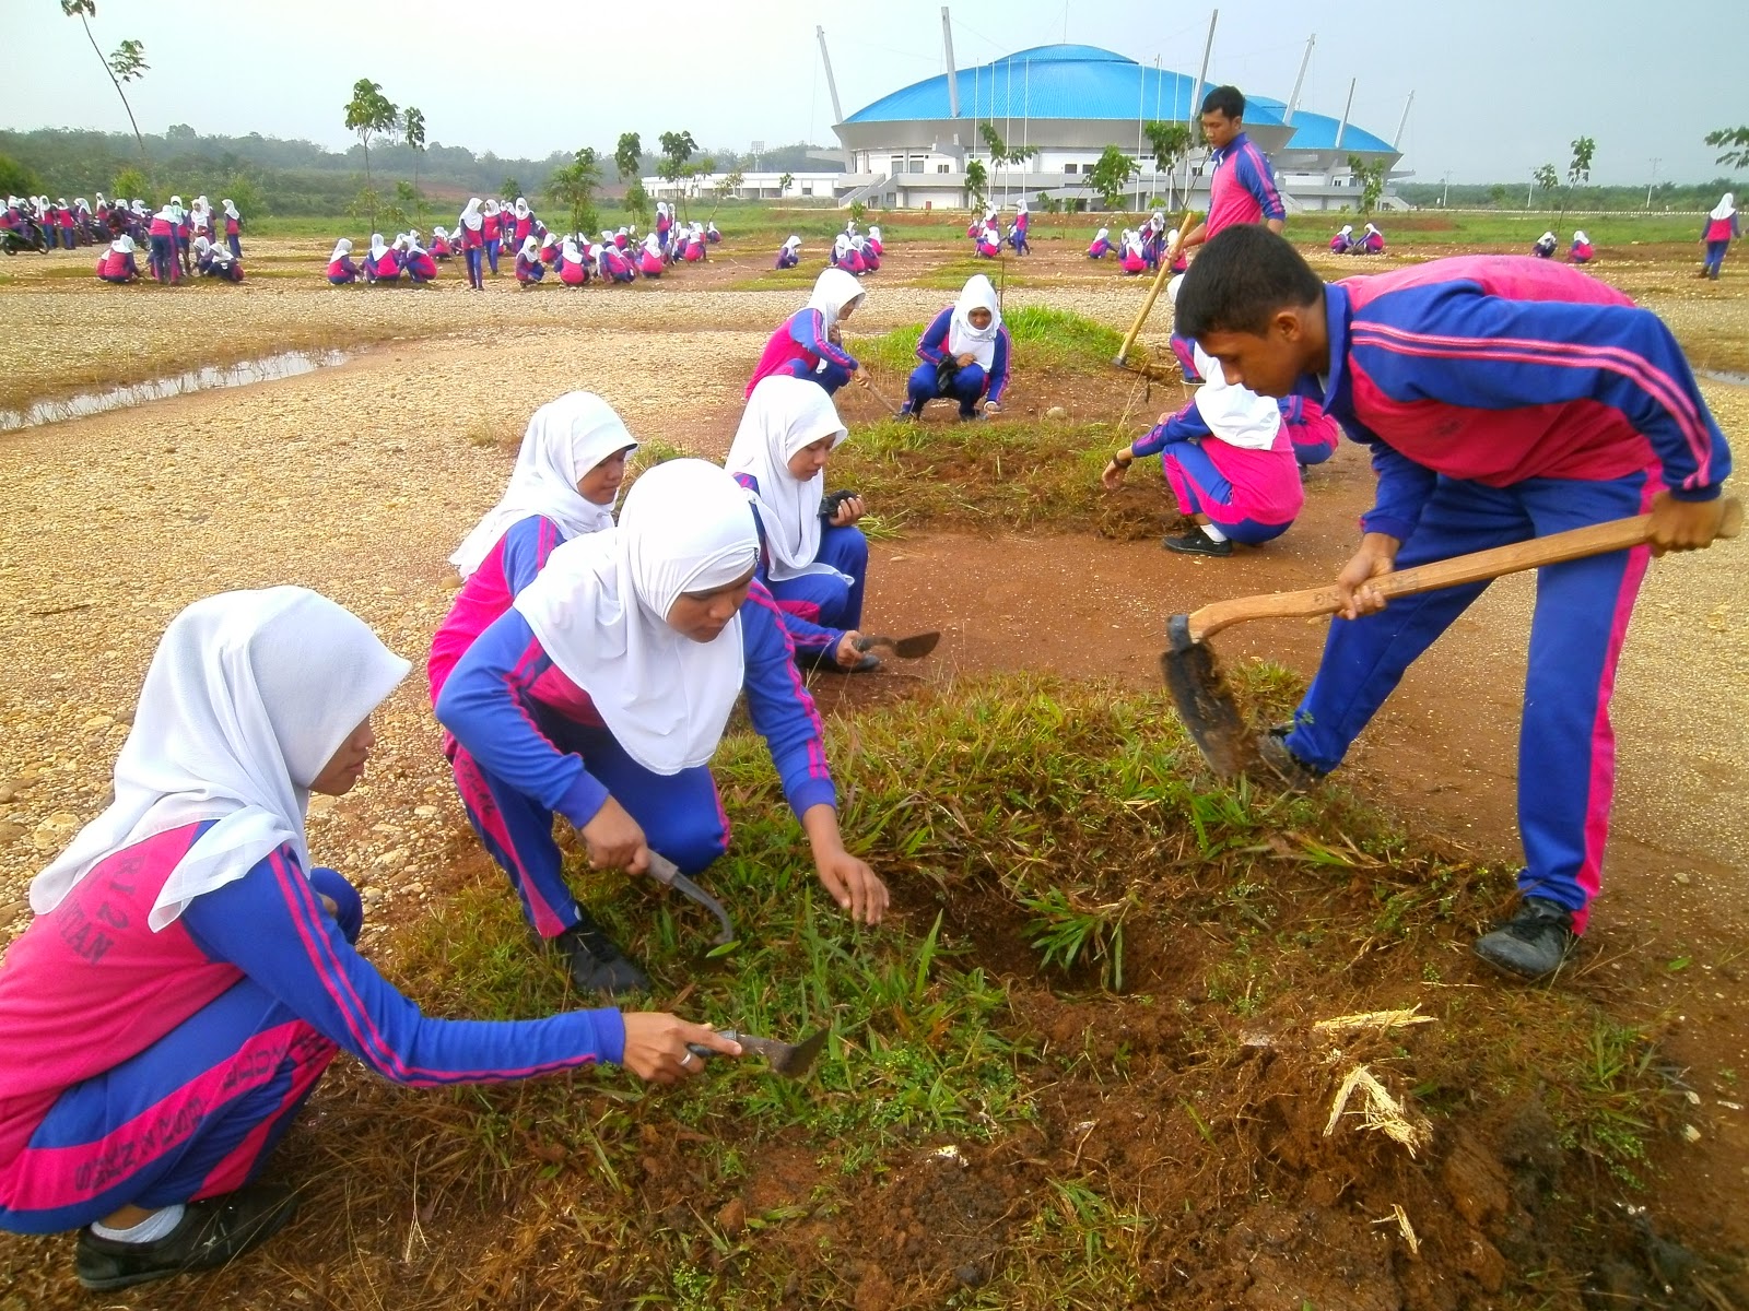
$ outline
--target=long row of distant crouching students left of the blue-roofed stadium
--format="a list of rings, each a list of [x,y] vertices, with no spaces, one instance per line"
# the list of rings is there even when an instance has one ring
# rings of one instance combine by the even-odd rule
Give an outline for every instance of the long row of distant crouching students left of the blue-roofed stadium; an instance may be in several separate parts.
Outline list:
[[[656,231],[638,238],[635,227],[603,231],[600,241],[581,232],[558,232],[540,222],[528,199],[514,205],[474,196],[453,229],[437,225],[427,246],[418,231],[385,241],[371,234],[371,253],[353,262],[352,239],[341,238],[329,255],[327,280],[336,287],[355,281],[395,285],[406,274],[413,285],[437,276],[437,266],[460,257],[472,290],[486,288],[486,276],[498,276],[498,264],[509,257],[511,273],[523,287],[537,287],[549,276],[565,287],[591,281],[630,283],[659,278],[672,264],[696,264],[707,248],[722,241],[715,222],[680,222],[666,201],[656,206]]]

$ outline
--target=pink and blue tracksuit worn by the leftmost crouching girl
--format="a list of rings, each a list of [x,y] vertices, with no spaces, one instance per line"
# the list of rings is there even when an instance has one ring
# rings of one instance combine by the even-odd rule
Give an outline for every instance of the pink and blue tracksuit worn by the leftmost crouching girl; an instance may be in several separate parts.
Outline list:
[[[353,949],[364,911],[352,884],[306,874],[290,848],[154,933],[147,912],[208,827],[117,851],[7,949],[0,1229],[59,1232],[122,1204],[243,1187],[339,1051],[409,1086],[621,1059],[617,1010],[423,1016]]]

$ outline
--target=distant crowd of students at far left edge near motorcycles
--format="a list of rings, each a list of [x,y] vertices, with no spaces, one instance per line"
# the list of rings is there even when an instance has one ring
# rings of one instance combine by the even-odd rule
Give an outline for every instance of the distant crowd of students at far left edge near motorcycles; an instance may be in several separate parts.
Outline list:
[[[226,198],[213,208],[205,196],[184,206],[180,196],[152,210],[145,201],[108,201],[98,192],[96,208],[84,196],[73,205],[44,196],[9,196],[0,213],[0,239],[28,248],[47,239],[47,248],[73,250],[107,243],[98,255],[100,281],[124,285],[143,276],[163,285],[189,278],[243,281],[243,215]],[[140,267],[140,250],[147,267]]]

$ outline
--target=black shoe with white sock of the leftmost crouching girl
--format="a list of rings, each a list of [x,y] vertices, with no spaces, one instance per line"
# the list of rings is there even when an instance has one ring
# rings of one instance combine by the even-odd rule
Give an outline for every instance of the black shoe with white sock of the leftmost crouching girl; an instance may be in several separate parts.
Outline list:
[[[177,1227],[152,1243],[117,1243],[80,1229],[73,1271],[86,1288],[107,1292],[219,1269],[273,1238],[296,1210],[297,1194],[283,1183],[250,1183],[222,1197],[189,1203]]]

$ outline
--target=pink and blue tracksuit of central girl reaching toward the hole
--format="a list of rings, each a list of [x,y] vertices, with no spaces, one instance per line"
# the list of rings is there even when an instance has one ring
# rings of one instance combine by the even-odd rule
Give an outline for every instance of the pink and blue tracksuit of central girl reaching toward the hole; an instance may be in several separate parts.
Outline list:
[[[754,582],[740,619],[747,710],[784,795],[796,815],[834,806],[820,717],[771,593]],[[514,607],[456,662],[437,696],[437,718],[460,748],[451,766],[469,818],[540,937],[581,918],[553,841],[554,815],[581,829],[614,797],[649,844],[687,874],[728,850],[729,822],[710,769],[656,774],[633,760]]]

